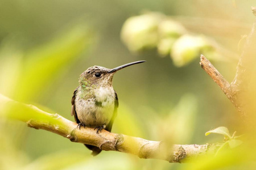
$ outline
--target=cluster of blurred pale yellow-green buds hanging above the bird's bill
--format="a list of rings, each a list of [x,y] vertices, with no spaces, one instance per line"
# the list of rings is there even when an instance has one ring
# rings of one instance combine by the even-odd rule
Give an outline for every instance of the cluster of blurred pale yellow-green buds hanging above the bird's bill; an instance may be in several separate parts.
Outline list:
[[[212,61],[226,61],[227,49],[222,49],[215,41],[203,35],[188,32],[183,25],[160,12],[145,12],[125,21],[121,39],[134,53],[158,49],[160,57],[170,56],[176,67],[188,65],[204,54]],[[233,60],[237,54],[233,53]]]

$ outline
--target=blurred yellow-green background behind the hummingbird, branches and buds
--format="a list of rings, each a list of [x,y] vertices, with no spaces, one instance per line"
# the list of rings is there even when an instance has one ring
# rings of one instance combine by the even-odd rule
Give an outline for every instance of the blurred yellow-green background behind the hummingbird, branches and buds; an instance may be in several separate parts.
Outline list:
[[[176,67],[154,48],[130,52],[121,40],[121,29],[131,16],[161,12],[236,56],[241,36],[253,24],[250,7],[255,5],[253,0],[1,0],[0,93],[74,120],[71,97],[84,70],[146,60],[114,75],[119,110],[112,131],[179,144],[220,142],[221,136],[205,137],[205,132],[226,126],[233,133],[240,117],[201,69],[200,56]],[[231,82],[237,62],[234,57],[212,63]],[[92,157],[80,143],[5,118],[0,127],[0,169],[188,168],[112,151]]]

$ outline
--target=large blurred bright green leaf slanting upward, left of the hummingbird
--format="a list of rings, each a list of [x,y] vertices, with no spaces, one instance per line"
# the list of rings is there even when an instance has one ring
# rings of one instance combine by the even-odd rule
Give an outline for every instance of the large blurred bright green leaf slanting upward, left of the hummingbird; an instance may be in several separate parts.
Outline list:
[[[24,54],[26,59],[15,88],[16,99],[28,100],[42,94],[57,75],[67,70],[90,47],[93,39],[93,32],[87,25],[77,24],[47,44]]]

